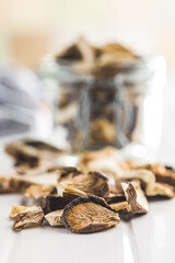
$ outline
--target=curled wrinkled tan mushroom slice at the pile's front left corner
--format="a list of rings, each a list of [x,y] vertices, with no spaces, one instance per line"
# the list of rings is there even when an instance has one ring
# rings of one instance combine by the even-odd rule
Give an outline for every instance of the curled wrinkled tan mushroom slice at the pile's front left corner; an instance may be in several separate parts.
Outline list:
[[[10,218],[14,220],[13,229],[40,226],[44,219],[44,211],[40,206],[13,206]]]

